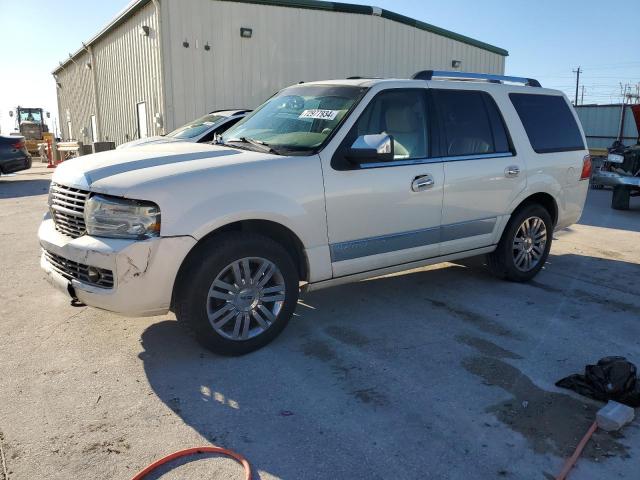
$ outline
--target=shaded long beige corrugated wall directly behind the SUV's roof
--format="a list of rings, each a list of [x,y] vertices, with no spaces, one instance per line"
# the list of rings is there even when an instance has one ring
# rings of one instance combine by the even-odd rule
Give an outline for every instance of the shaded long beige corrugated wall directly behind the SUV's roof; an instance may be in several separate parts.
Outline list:
[[[169,129],[214,109],[256,107],[301,80],[406,78],[450,70],[452,60],[462,71],[504,73],[502,55],[372,15],[162,0],[162,16]]]

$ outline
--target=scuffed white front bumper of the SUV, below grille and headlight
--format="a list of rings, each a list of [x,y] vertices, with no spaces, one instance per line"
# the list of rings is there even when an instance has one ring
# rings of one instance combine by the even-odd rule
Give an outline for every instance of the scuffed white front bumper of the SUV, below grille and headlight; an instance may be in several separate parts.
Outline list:
[[[50,218],[38,238],[40,266],[51,284],[85,305],[127,316],[169,310],[178,269],[196,244],[189,236],[74,239],[58,232]]]

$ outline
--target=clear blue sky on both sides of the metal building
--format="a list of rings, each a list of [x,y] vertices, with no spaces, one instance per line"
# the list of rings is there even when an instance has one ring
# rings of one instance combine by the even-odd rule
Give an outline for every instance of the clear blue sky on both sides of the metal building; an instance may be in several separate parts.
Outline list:
[[[162,1],[162,0],[161,0]],[[183,0],[188,1],[188,0]],[[8,111],[42,106],[57,115],[51,70],[127,0],[0,0],[0,129]],[[580,65],[585,103],[619,101],[620,82],[640,82],[638,0],[352,0],[453,30],[509,51],[506,73],[538,78],[573,98]],[[21,20],[24,21],[21,21]]]

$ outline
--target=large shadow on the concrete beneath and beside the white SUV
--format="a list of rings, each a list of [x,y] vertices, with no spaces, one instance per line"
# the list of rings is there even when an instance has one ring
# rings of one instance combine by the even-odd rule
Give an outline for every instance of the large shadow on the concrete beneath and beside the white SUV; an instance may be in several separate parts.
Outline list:
[[[163,321],[144,331],[140,358],[167,407],[262,478],[541,478],[596,410],[553,383],[613,346],[637,351],[625,329],[640,287],[616,293],[613,278],[638,265],[552,255],[518,284],[480,264],[306,294],[284,333],[243,357],[213,355]],[[598,315],[617,333],[594,342]],[[597,446],[586,458],[627,455],[606,434]]]

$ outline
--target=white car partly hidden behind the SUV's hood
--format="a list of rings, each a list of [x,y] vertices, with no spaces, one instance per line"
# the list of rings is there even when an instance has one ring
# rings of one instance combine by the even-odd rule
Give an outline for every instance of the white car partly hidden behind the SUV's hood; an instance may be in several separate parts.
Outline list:
[[[215,110],[187,123],[174,131],[160,136],[140,138],[123,143],[117,149],[139,147],[154,143],[171,142],[211,142],[216,135],[224,133],[245,117],[251,110]]]

